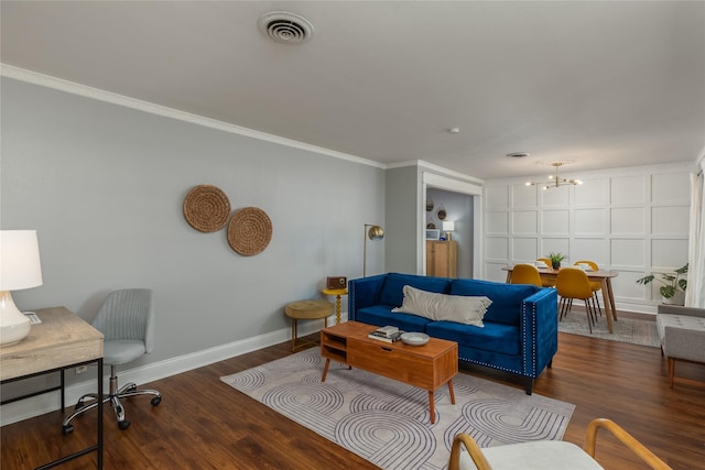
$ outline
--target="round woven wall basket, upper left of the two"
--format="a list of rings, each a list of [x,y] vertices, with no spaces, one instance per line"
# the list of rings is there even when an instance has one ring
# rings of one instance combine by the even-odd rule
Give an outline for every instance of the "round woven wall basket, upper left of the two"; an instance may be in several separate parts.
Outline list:
[[[228,222],[230,200],[218,187],[199,185],[184,199],[184,217],[191,227],[202,232],[215,232]]]

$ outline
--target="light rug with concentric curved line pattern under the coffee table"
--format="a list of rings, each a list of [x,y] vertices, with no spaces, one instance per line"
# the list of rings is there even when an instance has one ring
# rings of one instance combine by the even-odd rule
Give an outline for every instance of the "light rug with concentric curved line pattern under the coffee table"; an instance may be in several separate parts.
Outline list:
[[[574,405],[465,373],[435,393],[330,362],[318,348],[220,378],[270,408],[382,469],[445,468],[453,438],[473,436],[480,447],[563,437]]]

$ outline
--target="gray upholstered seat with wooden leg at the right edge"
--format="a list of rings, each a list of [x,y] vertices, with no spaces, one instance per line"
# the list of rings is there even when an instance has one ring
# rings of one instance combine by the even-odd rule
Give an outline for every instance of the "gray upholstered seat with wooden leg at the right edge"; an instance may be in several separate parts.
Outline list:
[[[705,308],[661,304],[657,311],[661,353],[669,360],[673,389],[675,361],[705,363]]]

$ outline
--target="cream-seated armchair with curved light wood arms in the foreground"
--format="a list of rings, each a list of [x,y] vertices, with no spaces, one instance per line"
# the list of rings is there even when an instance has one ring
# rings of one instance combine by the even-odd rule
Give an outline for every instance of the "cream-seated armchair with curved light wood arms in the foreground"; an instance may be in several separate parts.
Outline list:
[[[604,427],[621,444],[653,470],[670,470],[629,433],[609,419],[593,419],[587,426],[583,449],[561,440],[540,440],[480,449],[467,434],[458,434],[453,441],[448,470],[502,470],[502,469],[570,469],[592,470],[603,467],[595,460],[597,430]],[[463,451],[460,446],[467,451]]]

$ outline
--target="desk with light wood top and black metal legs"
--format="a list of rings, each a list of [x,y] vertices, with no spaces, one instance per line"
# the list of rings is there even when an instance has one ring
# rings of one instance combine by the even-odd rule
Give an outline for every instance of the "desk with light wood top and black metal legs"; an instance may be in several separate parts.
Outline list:
[[[0,383],[61,372],[61,385],[11,398],[2,404],[61,390],[63,413],[66,406],[64,403],[64,371],[88,363],[98,365],[98,396],[102,396],[102,334],[65,307],[44,308],[36,310],[36,315],[42,323],[32,325],[30,335],[24,340],[0,348]],[[98,439],[95,446],[39,468],[56,467],[96,451],[97,468],[102,469],[102,401],[98,403],[97,435]]]

